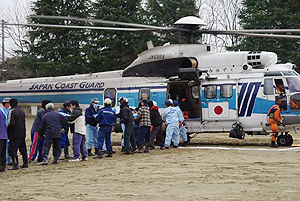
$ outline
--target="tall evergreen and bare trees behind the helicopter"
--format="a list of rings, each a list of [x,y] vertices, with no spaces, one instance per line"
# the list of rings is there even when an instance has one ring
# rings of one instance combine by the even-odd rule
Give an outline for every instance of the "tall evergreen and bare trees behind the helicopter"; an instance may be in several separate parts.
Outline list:
[[[223,8],[223,9],[222,9]],[[37,0],[32,15],[73,16],[111,21],[173,26],[183,16],[206,18],[208,28],[272,29],[299,28],[297,0]],[[29,23],[91,25],[88,22],[39,19]],[[95,24],[99,26],[108,26]],[[111,25],[109,25],[111,26]],[[299,40],[252,37],[221,37],[223,49],[273,51],[282,62],[300,64]],[[18,56],[7,59],[8,78],[71,75],[124,69],[138,53],[166,42],[183,43],[176,33],[99,31],[88,29],[35,27],[27,31]],[[221,42],[220,42],[221,41]]]

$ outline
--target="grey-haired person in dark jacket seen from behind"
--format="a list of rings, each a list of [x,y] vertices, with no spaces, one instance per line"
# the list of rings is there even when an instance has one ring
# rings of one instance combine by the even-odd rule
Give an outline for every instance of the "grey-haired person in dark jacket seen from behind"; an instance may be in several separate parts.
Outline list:
[[[39,165],[48,164],[48,155],[52,144],[54,157],[52,164],[58,163],[58,158],[60,156],[59,142],[61,138],[61,123],[67,123],[66,117],[54,111],[53,103],[48,103],[46,105],[46,111],[40,125],[41,134],[44,134],[45,137],[42,151],[43,161],[39,163]]]

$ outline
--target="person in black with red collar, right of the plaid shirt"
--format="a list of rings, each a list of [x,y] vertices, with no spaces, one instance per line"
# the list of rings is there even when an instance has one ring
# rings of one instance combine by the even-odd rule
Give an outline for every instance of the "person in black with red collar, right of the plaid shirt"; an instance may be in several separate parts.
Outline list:
[[[150,133],[150,148],[154,149],[154,140],[156,139],[156,143],[158,146],[160,146],[161,149],[164,148],[164,139],[162,135],[162,119],[161,115],[158,111],[157,103],[155,101],[149,101],[149,107],[150,107],[150,119],[151,119],[151,125],[152,130]]]

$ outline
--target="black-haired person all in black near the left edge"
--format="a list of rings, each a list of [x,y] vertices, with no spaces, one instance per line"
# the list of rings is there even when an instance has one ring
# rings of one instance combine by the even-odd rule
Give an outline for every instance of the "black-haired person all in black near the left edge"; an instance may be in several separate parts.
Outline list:
[[[8,139],[9,147],[8,153],[13,159],[13,167],[10,170],[19,169],[19,161],[17,151],[19,149],[23,165],[21,168],[28,168],[28,156],[25,143],[26,127],[25,127],[25,113],[18,107],[18,101],[15,98],[9,100],[12,110],[8,114]]]

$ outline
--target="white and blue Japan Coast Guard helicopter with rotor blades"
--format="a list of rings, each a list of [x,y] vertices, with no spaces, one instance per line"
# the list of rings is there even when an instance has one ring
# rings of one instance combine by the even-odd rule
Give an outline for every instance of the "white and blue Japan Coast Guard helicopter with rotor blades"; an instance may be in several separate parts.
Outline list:
[[[33,16],[45,19],[68,19],[130,26],[86,27],[53,24],[18,24],[35,27],[119,31],[179,31],[198,34],[225,34],[253,37],[300,38],[297,35],[273,33],[300,32],[299,29],[207,30],[205,22],[187,16],[175,22],[180,27],[157,27],[98,19],[67,16]],[[16,25],[16,24],[9,24]],[[269,34],[265,34],[269,33]],[[126,97],[135,107],[141,100],[156,101],[161,112],[166,99],[179,101],[186,121],[187,133],[230,132],[230,137],[244,139],[248,135],[267,135],[268,109],[274,105],[276,89],[284,86],[281,105],[285,127],[280,127],[279,146],[291,146],[289,134],[300,124],[300,77],[292,63],[277,64],[277,55],[266,51],[220,52],[209,44],[165,44],[140,53],[124,70],[19,80],[0,83],[0,98],[14,97],[28,106],[32,115],[43,99],[56,105],[76,99],[87,107],[92,98],[103,103],[112,99],[118,109],[119,97]],[[195,135],[194,135],[195,136]]]

